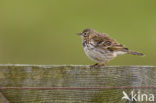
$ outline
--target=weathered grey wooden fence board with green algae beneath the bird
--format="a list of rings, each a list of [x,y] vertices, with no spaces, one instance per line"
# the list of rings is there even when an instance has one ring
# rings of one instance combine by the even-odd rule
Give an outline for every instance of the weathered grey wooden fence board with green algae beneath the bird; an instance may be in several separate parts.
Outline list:
[[[0,65],[0,91],[11,103],[125,103],[123,91],[156,95],[155,74],[154,66]]]

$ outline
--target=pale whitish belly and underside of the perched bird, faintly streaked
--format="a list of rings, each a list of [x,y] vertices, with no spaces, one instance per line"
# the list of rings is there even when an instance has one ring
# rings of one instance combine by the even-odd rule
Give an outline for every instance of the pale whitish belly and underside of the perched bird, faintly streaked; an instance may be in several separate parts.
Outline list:
[[[86,55],[96,63],[107,63],[108,61],[115,58],[117,55],[125,54],[124,52],[112,52],[109,50],[103,50],[95,48],[93,46],[84,47]]]

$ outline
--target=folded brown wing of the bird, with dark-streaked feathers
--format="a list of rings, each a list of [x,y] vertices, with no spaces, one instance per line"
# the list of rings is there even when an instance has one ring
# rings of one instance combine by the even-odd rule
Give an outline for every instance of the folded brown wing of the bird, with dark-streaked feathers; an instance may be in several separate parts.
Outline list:
[[[112,51],[127,49],[124,45],[118,43],[106,33],[97,34],[93,39],[96,42],[96,46],[103,49],[109,49]]]

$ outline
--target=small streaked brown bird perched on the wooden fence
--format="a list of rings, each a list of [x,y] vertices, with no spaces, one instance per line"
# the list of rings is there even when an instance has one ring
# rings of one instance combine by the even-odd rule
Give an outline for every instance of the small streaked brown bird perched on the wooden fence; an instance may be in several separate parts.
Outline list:
[[[106,65],[118,55],[133,54],[143,56],[143,53],[129,50],[124,45],[109,37],[106,33],[98,33],[93,29],[85,29],[79,33],[86,55],[96,64],[91,67]]]

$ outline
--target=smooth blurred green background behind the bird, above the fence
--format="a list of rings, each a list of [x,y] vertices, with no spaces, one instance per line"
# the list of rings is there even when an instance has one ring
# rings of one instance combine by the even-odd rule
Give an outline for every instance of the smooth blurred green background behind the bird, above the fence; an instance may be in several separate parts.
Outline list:
[[[155,65],[156,0],[0,0],[0,63],[93,64],[76,35],[88,27],[146,54],[109,65]]]

